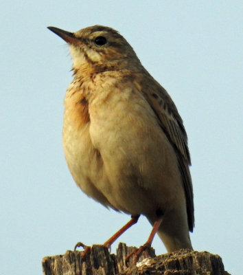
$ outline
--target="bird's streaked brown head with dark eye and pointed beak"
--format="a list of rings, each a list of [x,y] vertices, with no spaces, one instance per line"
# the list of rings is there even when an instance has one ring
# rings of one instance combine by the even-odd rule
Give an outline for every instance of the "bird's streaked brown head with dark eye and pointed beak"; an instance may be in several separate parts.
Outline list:
[[[55,27],[48,29],[69,44],[74,70],[105,72],[141,67],[132,47],[112,28],[94,25],[78,32],[67,32]]]

